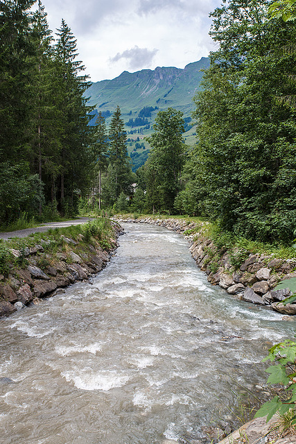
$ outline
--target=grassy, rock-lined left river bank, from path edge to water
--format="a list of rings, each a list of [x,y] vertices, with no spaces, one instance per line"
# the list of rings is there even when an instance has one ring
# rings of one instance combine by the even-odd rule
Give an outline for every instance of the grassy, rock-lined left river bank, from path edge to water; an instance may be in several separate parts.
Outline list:
[[[78,225],[64,231],[72,232],[73,237],[62,234],[63,230],[53,236],[50,230],[40,239],[28,237],[1,244],[0,316],[9,316],[31,303],[40,304],[43,298],[103,270],[123,232],[114,221],[110,226],[104,224],[104,235],[104,229],[97,229],[94,221],[84,228]]]

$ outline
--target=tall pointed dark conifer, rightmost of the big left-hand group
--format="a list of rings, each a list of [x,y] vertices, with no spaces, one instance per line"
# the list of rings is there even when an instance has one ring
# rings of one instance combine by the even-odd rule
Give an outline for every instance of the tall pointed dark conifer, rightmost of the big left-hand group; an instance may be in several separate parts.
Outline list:
[[[87,75],[80,75],[85,67],[76,60],[76,39],[62,19],[55,45],[55,66],[58,77],[57,106],[62,112],[62,149],[60,153],[60,210],[73,208],[75,191],[84,194],[89,188],[89,145],[92,128],[88,126],[89,112],[83,93],[89,87]]]

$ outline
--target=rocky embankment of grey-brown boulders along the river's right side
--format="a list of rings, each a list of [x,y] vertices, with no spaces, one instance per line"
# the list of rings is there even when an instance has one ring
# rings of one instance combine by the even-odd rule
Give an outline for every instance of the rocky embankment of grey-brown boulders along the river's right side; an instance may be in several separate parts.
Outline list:
[[[191,244],[190,251],[196,264],[207,273],[208,281],[219,285],[235,298],[279,311],[285,320],[296,314],[295,303],[282,301],[292,293],[290,289],[275,290],[278,282],[296,278],[296,258],[279,259],[272,255],[252,254],[245,250],[218,249],[214,241],[204,236],[204,225],[180,219],[120,219],[121,222],[152,223],[184,234]]]

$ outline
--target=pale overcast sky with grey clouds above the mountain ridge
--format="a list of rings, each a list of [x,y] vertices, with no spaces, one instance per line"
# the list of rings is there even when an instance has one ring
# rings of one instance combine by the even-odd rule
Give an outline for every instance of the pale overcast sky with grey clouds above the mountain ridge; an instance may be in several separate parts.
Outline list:
[[[216,45],[209,12],[221,0],[43,0],[49,28],[61,19],[77,39],[79,60],[93,82],[122,71],[184,68]]]

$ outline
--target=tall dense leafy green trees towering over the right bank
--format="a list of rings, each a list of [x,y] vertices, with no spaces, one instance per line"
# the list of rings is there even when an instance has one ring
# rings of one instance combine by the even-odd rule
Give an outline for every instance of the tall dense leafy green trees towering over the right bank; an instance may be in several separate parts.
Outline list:
[[[219,49],[195,98],[188,183],[195,211],[223,230],[288,245],[296,225],[295,110],[276,98],[295,94],[286,75],[295,75],[295,53],[281,47],[295,42],[296,28],[266,20],[268,3],[231,0],[211,13]]]

